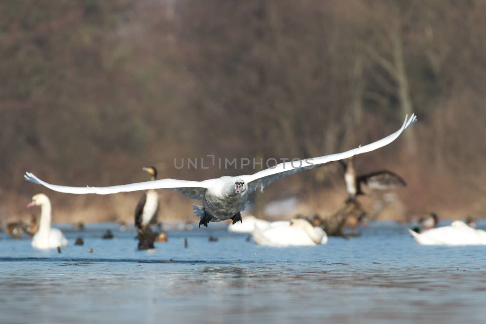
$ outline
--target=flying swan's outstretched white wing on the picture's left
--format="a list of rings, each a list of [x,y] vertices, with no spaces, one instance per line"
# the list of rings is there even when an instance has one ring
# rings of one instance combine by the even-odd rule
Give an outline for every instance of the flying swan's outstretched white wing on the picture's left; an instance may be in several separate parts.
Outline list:
[[[42,185],[49,189],[65,193],[75,193],[75,194],[86,194],[86,193],[96,193],[99,195],[107,195],[110,193],[117,192],[128,192],[137,190],[147,190],[147,189],[172,189],[179,191],[184,196],[201,200],[206,192],[207,185],[206,181],[186,181],[186,180],[175,180],[175,179],[161,179],[154,181],[138,182],[129,185],[112,186],[112,187],[68,187],[68,186],[57,186],[48,184],[45,181],[40,180],[34,174],[26,172],[25,179],[27,181]]]

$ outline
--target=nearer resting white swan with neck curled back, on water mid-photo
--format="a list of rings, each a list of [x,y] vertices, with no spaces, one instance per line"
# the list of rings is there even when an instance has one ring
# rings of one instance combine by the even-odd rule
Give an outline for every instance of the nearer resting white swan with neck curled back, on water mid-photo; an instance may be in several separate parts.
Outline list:
[[[320,227],[313,227],[310,222],[296,218],[289,226],[278,226],[266,230],[255,226],[252,237],[258,245],[268,246],[312,246],[326,244],[328,236]]]

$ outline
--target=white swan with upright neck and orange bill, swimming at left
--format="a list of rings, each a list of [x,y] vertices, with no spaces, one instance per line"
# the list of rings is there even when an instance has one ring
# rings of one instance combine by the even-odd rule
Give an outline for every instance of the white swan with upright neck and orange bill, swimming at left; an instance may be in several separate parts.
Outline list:
[[[51,201],[43,194],[39,193],[32,197],[32,202],[27,208],[40,206],[39,230],[32,238],[32,247],[37,249],[50,249],[68,246],[68,240],[57,228],[51,228]]]

